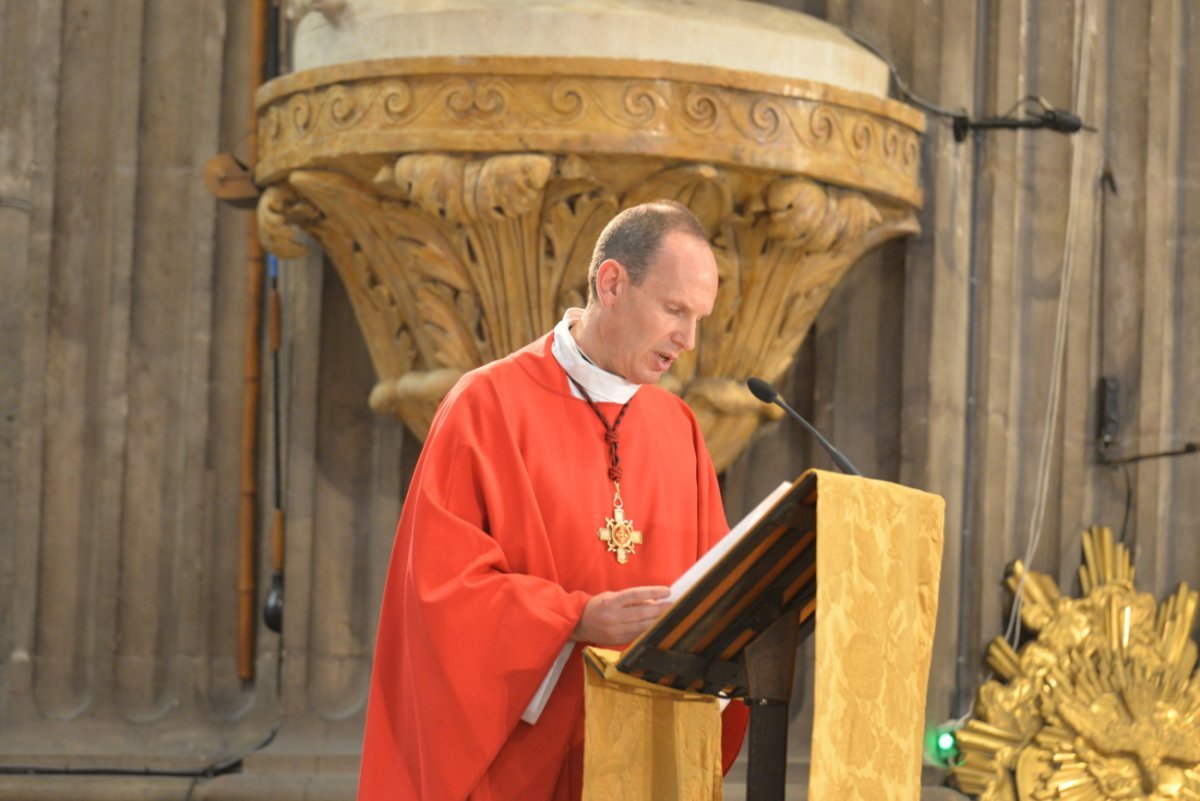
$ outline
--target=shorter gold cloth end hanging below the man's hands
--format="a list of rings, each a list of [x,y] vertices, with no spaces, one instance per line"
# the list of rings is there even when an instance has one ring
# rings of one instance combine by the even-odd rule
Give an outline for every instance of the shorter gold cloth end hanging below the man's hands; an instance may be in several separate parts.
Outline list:
[[[720,701],[618,673],[619,658],[584,649],[583,801],[720,801]]]

